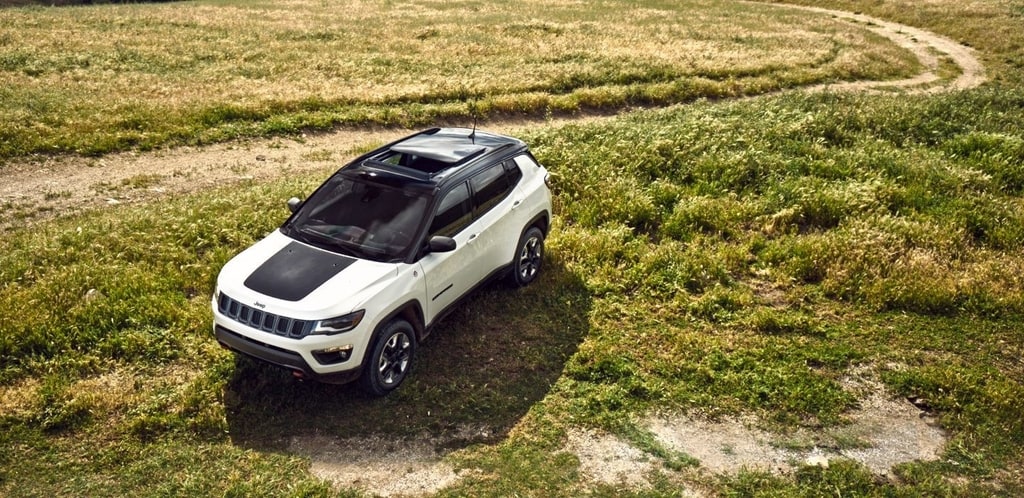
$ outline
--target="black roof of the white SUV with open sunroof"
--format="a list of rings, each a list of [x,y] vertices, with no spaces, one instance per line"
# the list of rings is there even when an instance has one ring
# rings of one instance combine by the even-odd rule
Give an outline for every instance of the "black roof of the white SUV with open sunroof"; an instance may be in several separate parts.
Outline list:
[[[343,169],[388,182],[439,186],[483,158],[500,160],[525,148],[522,140],[497,133],[431,128],[367,153]]]

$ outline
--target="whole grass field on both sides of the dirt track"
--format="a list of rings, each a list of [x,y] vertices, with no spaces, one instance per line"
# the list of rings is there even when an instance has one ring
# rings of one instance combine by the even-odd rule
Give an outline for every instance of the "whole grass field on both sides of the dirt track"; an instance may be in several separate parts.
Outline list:
[[[319,42],[351,47],[362,39],[367,45],[352,57],[365,61],[358,57],[385,48],[374,44],[379,38],[367,41],[374,29],[367,26],[372,25],[367,12],[353,8],[346,12],[353,17],[345,19],[322,4],[290,4],[289,12],[302,15],[291,22],[300,28],[289,31],[283,28],[291,26],[287,12],[270,15],[278,4],[254,5],[75,10],[81,15],[63,9],[0,10],[4,60],[18,50],[45,52],[59,44],[95,57],[88,68],[58,71],[62,63],[55,60],[56,52],[32,55],[36,58],[26,60],[43,69],[35,76],[25,72],[29,66],[6,69],[8,63],[0,63],[0,75],[9,78],[0,102],[17,94],[31,102],[25,109],[40,110],[8,107],[0,113],[23,112],[30,121],[63,116],[45,110],[77,101],[70,90],[38,83],[71,81],[72,73],[80,73],[82,88],[97,92],[81,106],[98,100],[83,116],[131,101],[135,93],[118,86],[124,82],[104,79],[123,76],[156,78],[173,90],[167,100],[143,99],[139,106],[154,108],[141,114],[116,111],[103,119],[138,119],[144,128],[152,124],[145,113],[180,118],[174,125],[179,134],[145,131],[162,136],[152,142],[122,139],[129,132],[118,126],[85,132],[58,123],[27,125],[38,131],[32,135],[38,140],[10,138],[22,136],[22,128],[4,126],[5,157],[110,150],[93,148],[96,143],[156,147],[261,134],[271,132],[268,126],[279,120],[298,123],[317,113],[330,118],[315,126],[329,126],[349,122],[345,116],[353,109],[368,110],[365,118],[372,120],[398,113],[398,121],[413,116],[401,113],[418,109],[422,114],[416,119],[429,120],[468,112],[468,96],[488,102],[488,113],[543,114],[562,106],[554,102],[577,102],[566,110],[614,109],[635,102],[629,96],[638,94],[634,91],[676,88],[678,81],[711,86],[683,84],[680,88],[705,89],[643,101],[895,77],[913,68],[905,54],[828,19],[775,16],[768,7],[750,4],[609,2],[602,5],[620,9],[617,15],[591,13],[594,18],[579,26],[567,20],[568,3],[530,3],[522,17],[511,22],[513,14],[499,4],[483,4],[473,18],[493,13],[501,23],[481,26],[526,27],[530,35],[522,38],[548,40],[549,58],[573,53],[580,42],[562,40],[573,36],[591,45],[604,40],[600,43],[627,52],[645,50],[639,47],[669,28],[644,19],[665,12],[674,19],[671,29],[686,34],[680,43],[700,42],[702,33],[711,37],[703,41],[728,48],[703,52],[703,69],[667,53],[665,80],[651,76],[652,63],[643,66],[649,60],[633,69],[621,65],[632,58],[629,53],[545,66],[549,52],[535,49],[530,53],[538,60],[526,64],[537,65],[537,80],[522,87],[482,78],[482,66],[471,68],[477,73],[470,71],[459,86],[442,78],[417,83],[419,73],[407,68],[396,78],[399,87],[368,74],[359,76],[374,82],[359,86],[366,94],[326,95],[302,86],[316,81],[303,76],[309,70],[304,65],[316,58],[308,51],[315,44],[297,39],[344,33],[354,38],[328,36]],[[410,17],[398,8],[389,11],[394,17],[388,18],[406,23],[399,31],[411,37],[388,35],[402,47],[395,50],[408,49],[430,25],[424,19],[431,9],[445,6],[454,9],[443,17],[451,23],[437,23],[436,36],[465,45],[479,35],[458,22],[470,15],[470,6],[416,5],[421,8]],[[904,8],[896,8],[900,5]],[[1024,86],[1015,66],[1024,35],[1014,31],[1024,11],[1019,3],[997,0],[907,5],[836,3],[963,39],[982,53],[995,81],[933,96],[791,92],[699,100],[521,133],[555,178],[557,218],[547,273],[522,291],[496,286],[472,297],[421,349],[409,383],[387,399],[370,400],[345,386],[297,383],[285,372],[233,358],[209,332],[209,295],[220,265],[272,230],[285,216],[284,200],[310,192],[326,172],[119,206],[5,234],[0,240],[0,495],[351,496],[358,491],[313,476],[308,460],[290,451],[290,442],[324,434],[452,435],[467,424],[496,430],[456,438],[454,445],[462,449],[450,460],[467,472],[442,496],[680,496],[685,489],[726,496],[1024,494]],[[242,15],[245,8],[265,9],[265,15]],[[7,28],[15,17],[24,31]],[[142,24],[121,35],[148,26],[151,39],[170,43],[166,40],[179,38],[190,48],[177,55],[154,49],[143,56],[144,46],[122,40],[122,47],[138,52],[136,63],[131,57],[102,61],[117,55],[115,28],[126,17]],[[198,28],[212,17],[225,25]],[[253,27],[264,18],[280,25]],[[67,23],[81,25],[71,29]],[[588,23],[594,24],[593,32],[584,29]],[[652,31],[633,37],[635,44],[626,43],[633,38],[622,23]],[[802,28],[786,29],[792,23]],[[382,29],[383,24],[374,25]],[[40,41],[58,26],[66,27],[59,43],[52,36]],[[545,38],[546,30],[555,27],[564,31]],[[28,35],[33,29],[40,31]],[[97,33],[90,29],[113,31],[90,38]],[[756,35],[748,39],[730,29]],[[218,38],[203,41],[198,33]],[[1005,36],[989,39],[987,33]],[[513,39],[519,37],[505,43]],[[230,43],[221,47],[214,44],[218,40]],[[839,52],[820,65],[814,63],[814,50],[786,52],[772,45],[799,47],[798,40],[814,49],[827,40],[825,45],[838,46]],[[90,52],[93,43],[106,48]],[[173,69],[174,60],[211,53],[215,46],[236,60],[253,50],[265,51],[264,57],[291,53],[297,63],[207,66],[197,60],[188,63],[190,70]],[[734,50],[749,51],[738,56]],[[344,58],[333,52],[322,56]],[[732,56],[752,64],[752,73],[727,75]],[[440,74],[450,66],[480,64],[494,70],[507,64],[493,59],[501,56],[460,53],[434,60]],[[117,64],[142,64],[138,60],[165,66],[115,70],[122,68]],[[897,64],[893,71],[881,64],[867,65],[867,73],[843,69],[869,60]],[[114,66],[96,69],[104,64]],[[366,70],[364,64],[356,66]],[[240,78],[224,74],[227,68],[283,72],[266,78],[264,100],[247,96],[245,87],[237,94],[223,91]],[[602,68],[604,73],[592,73]],[[614,75],[630,71],[646,76],[616,80]],[[587,82],[552,86],[562,81],[552,75],[572,74]],[[535,87],[523,89],[529,85]],[[144,86],[155,88],[152,81]],[[586,106],[573,99],[591,92],[625,96],[602,96]],[[186,93],[195,96],[181,101]],[[308,103],[307,98],[318,100]],[[505,109],[503,101],[540,103]],[[302,107],[307,103],[311,107]],[[208,121],[189,117],[228,108],[254,114]],[[45,144],[38,149],[37,143]],[[826,469],[805,466],[787,475],[754,470],[711,475],[692,471],[687,455],[652,443],[639,423],[651,411],[669,410],[751,415],[780,432],[839,426],[858,402],[841,386],[855,369],[870,372],[896,396],[928,401],[950,435],[942,459],[902,464],[892,480],[851,462]],[[557,451],[567,431],[579,427],[631,441],[664,462],[663,468],[649,488],[592,487],[581,474],[579,459]]]

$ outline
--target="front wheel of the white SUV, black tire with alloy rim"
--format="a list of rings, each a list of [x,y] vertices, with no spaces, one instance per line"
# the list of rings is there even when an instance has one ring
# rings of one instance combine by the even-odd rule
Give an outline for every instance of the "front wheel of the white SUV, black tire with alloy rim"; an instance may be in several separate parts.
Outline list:
[[[359,377],[359,387],[371,396],[391,392],[409,375],[416,355],[416,332],[404,320],[387,324],[375,336]]]

